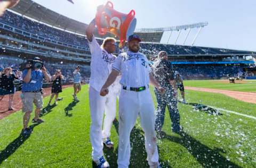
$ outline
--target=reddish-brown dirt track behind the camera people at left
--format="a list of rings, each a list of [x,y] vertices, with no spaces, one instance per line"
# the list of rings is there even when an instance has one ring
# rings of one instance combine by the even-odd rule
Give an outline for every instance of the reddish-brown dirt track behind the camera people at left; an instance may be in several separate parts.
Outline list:
[[[65,85],[62,86],[62,88],[72,87],[73,85]],[[51,94],[51,88],[44,88],[44,97],[49,96]],[[4,117],[21,110],[22,108],[22,102],[20,98],[20,91],[17,91],[13,96],[13,107],[15,110],[8,111],[8,102],[9,102],[9,96],[6,95],[0,102],[0,120]]]

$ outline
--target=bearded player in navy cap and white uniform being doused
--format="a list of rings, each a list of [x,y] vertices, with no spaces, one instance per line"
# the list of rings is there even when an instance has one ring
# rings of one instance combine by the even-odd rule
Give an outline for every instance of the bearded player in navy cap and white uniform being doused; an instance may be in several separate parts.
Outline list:
[[[139,53],[141,39],[131,35],[128,39],[129,51],[121,53],[113,64],[112,72],[103,85],[100,94],[106,96],[108,87],[122,74],[119,96],[119,146],[118,167],[128,167],[130,164],[130,134],[138,115],[141,127],[145,132],[147,161],[150,167],[159,167],[158,149],[156,145],[154,102],[149,91],[149,81],[161,93],[164,89],[154,79],[148,60]]]

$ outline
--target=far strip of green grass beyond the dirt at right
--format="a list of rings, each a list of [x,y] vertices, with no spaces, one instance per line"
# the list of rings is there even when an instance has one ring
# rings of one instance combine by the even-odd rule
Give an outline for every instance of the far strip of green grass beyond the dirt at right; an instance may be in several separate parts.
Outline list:
[[[184,86],[256,92],[256,80],[236,80],[235,83],[229,83],[228,80],[187,80]]]

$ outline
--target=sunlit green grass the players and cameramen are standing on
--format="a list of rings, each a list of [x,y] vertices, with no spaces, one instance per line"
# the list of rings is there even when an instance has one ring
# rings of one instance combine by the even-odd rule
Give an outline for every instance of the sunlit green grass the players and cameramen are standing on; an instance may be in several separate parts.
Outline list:
[[[45,122],[31,125],[33,133],[29,137],[20,136],[21,112],[0,120],[0,167],[95,166],[91,160],[89,138],[89,89],[88,86],[82,87],[78,103],[73,102],[72,91],[72,88],[64,89],[60,94],[64,99],[57,106],[44,108],[42,118]],[[186,97],[189,103],[224,108],[256,117],[256,104],[200,91],[186,90]],[[48,100],[49,97],[44,99],[45,105]],[[191,105],[178,106],[184,133],[178,135],[171,132],[170,117],[166,113],[166,136],[158,140],[162,167],[256,167],[254,119],[224,111],[221,111],[223,115],[210,115],[194,110]],[[115,122],[111,129],[115,148],[104,148],[111,167],[117,167],[117,129],[118,124]],[[131,135],[130,167],[148,167],[144,141],[138,120]]]

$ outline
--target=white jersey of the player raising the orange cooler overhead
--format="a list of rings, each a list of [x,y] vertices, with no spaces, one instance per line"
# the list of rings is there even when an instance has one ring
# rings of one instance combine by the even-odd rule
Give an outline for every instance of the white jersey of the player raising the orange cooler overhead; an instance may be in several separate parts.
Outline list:
[[[90,86],[100,91],[111,72],[111,64],[114,63],[116,56],[105,51],[94,36],[92,41],[89,41],[89,46],[92,55]]]

